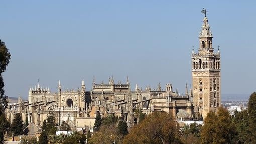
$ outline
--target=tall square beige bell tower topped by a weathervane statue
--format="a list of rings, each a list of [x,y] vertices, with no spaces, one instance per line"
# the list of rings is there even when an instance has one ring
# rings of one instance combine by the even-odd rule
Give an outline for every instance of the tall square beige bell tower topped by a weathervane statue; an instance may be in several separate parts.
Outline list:
[[[199,34],[198,53],[192,51],[192,91],[194,96],[195,116],[206,117],[210,111],[220,107],[220,52],[214,53],[212,33],[206,17]]]

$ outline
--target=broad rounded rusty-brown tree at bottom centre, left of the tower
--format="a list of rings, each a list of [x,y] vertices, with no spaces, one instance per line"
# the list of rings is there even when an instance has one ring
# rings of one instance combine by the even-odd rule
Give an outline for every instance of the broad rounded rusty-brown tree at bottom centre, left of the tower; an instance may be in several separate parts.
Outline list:
[[[177,123],[167,112],[153,112],[134,126],[123,143],[181,143]]]

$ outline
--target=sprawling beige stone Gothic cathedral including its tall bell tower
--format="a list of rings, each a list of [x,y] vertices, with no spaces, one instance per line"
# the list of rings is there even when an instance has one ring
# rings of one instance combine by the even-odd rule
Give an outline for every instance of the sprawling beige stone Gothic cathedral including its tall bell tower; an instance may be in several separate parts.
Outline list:
[[[208,19],[203,18],[199,34],[198,52],[192,51],[192,88],[185,87],[185,94],[173,90],[167,83],[157,89],[147,86],[145,89],[136,85],[131,89],[129,79],[121,83],[109,77],[107,83],[95,83],[86,89],[84,80],[76,89],[63,90],[59,81],[57,92],[39,84],[29,89],[28,101],[19,98],[17,104],[9,104],[6,109],[7,119],[12,122],[16,113],[21,113],[23,120],[40,127],[49,111],[54,112],[55,122],[59,126],[66,121],[72,130],[92,128],[95,116],[109,114],[119,116],[133,126],[135,110],[150,114],[153,111],[171,113],[176,120],[202,120],[209,111],[216,111],[220,106],[220,52],[214,53],[212,33]],[[40,132],[40,128],[38,128]]]

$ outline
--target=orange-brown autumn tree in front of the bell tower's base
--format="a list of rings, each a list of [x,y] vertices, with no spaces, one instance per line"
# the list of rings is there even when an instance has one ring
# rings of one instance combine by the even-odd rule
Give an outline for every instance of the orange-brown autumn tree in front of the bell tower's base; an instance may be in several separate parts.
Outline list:
[[[201,131],[202,143],[234,143],[236,130],[228,111],[218,108],[217,114],[210,111],[204,119]]]

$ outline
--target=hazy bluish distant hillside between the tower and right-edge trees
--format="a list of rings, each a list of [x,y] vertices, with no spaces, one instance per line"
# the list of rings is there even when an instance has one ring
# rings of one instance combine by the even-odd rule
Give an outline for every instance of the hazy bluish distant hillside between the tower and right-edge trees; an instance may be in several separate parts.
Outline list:
[[[221,101],[248,101],[250,94],[221,94]]]

